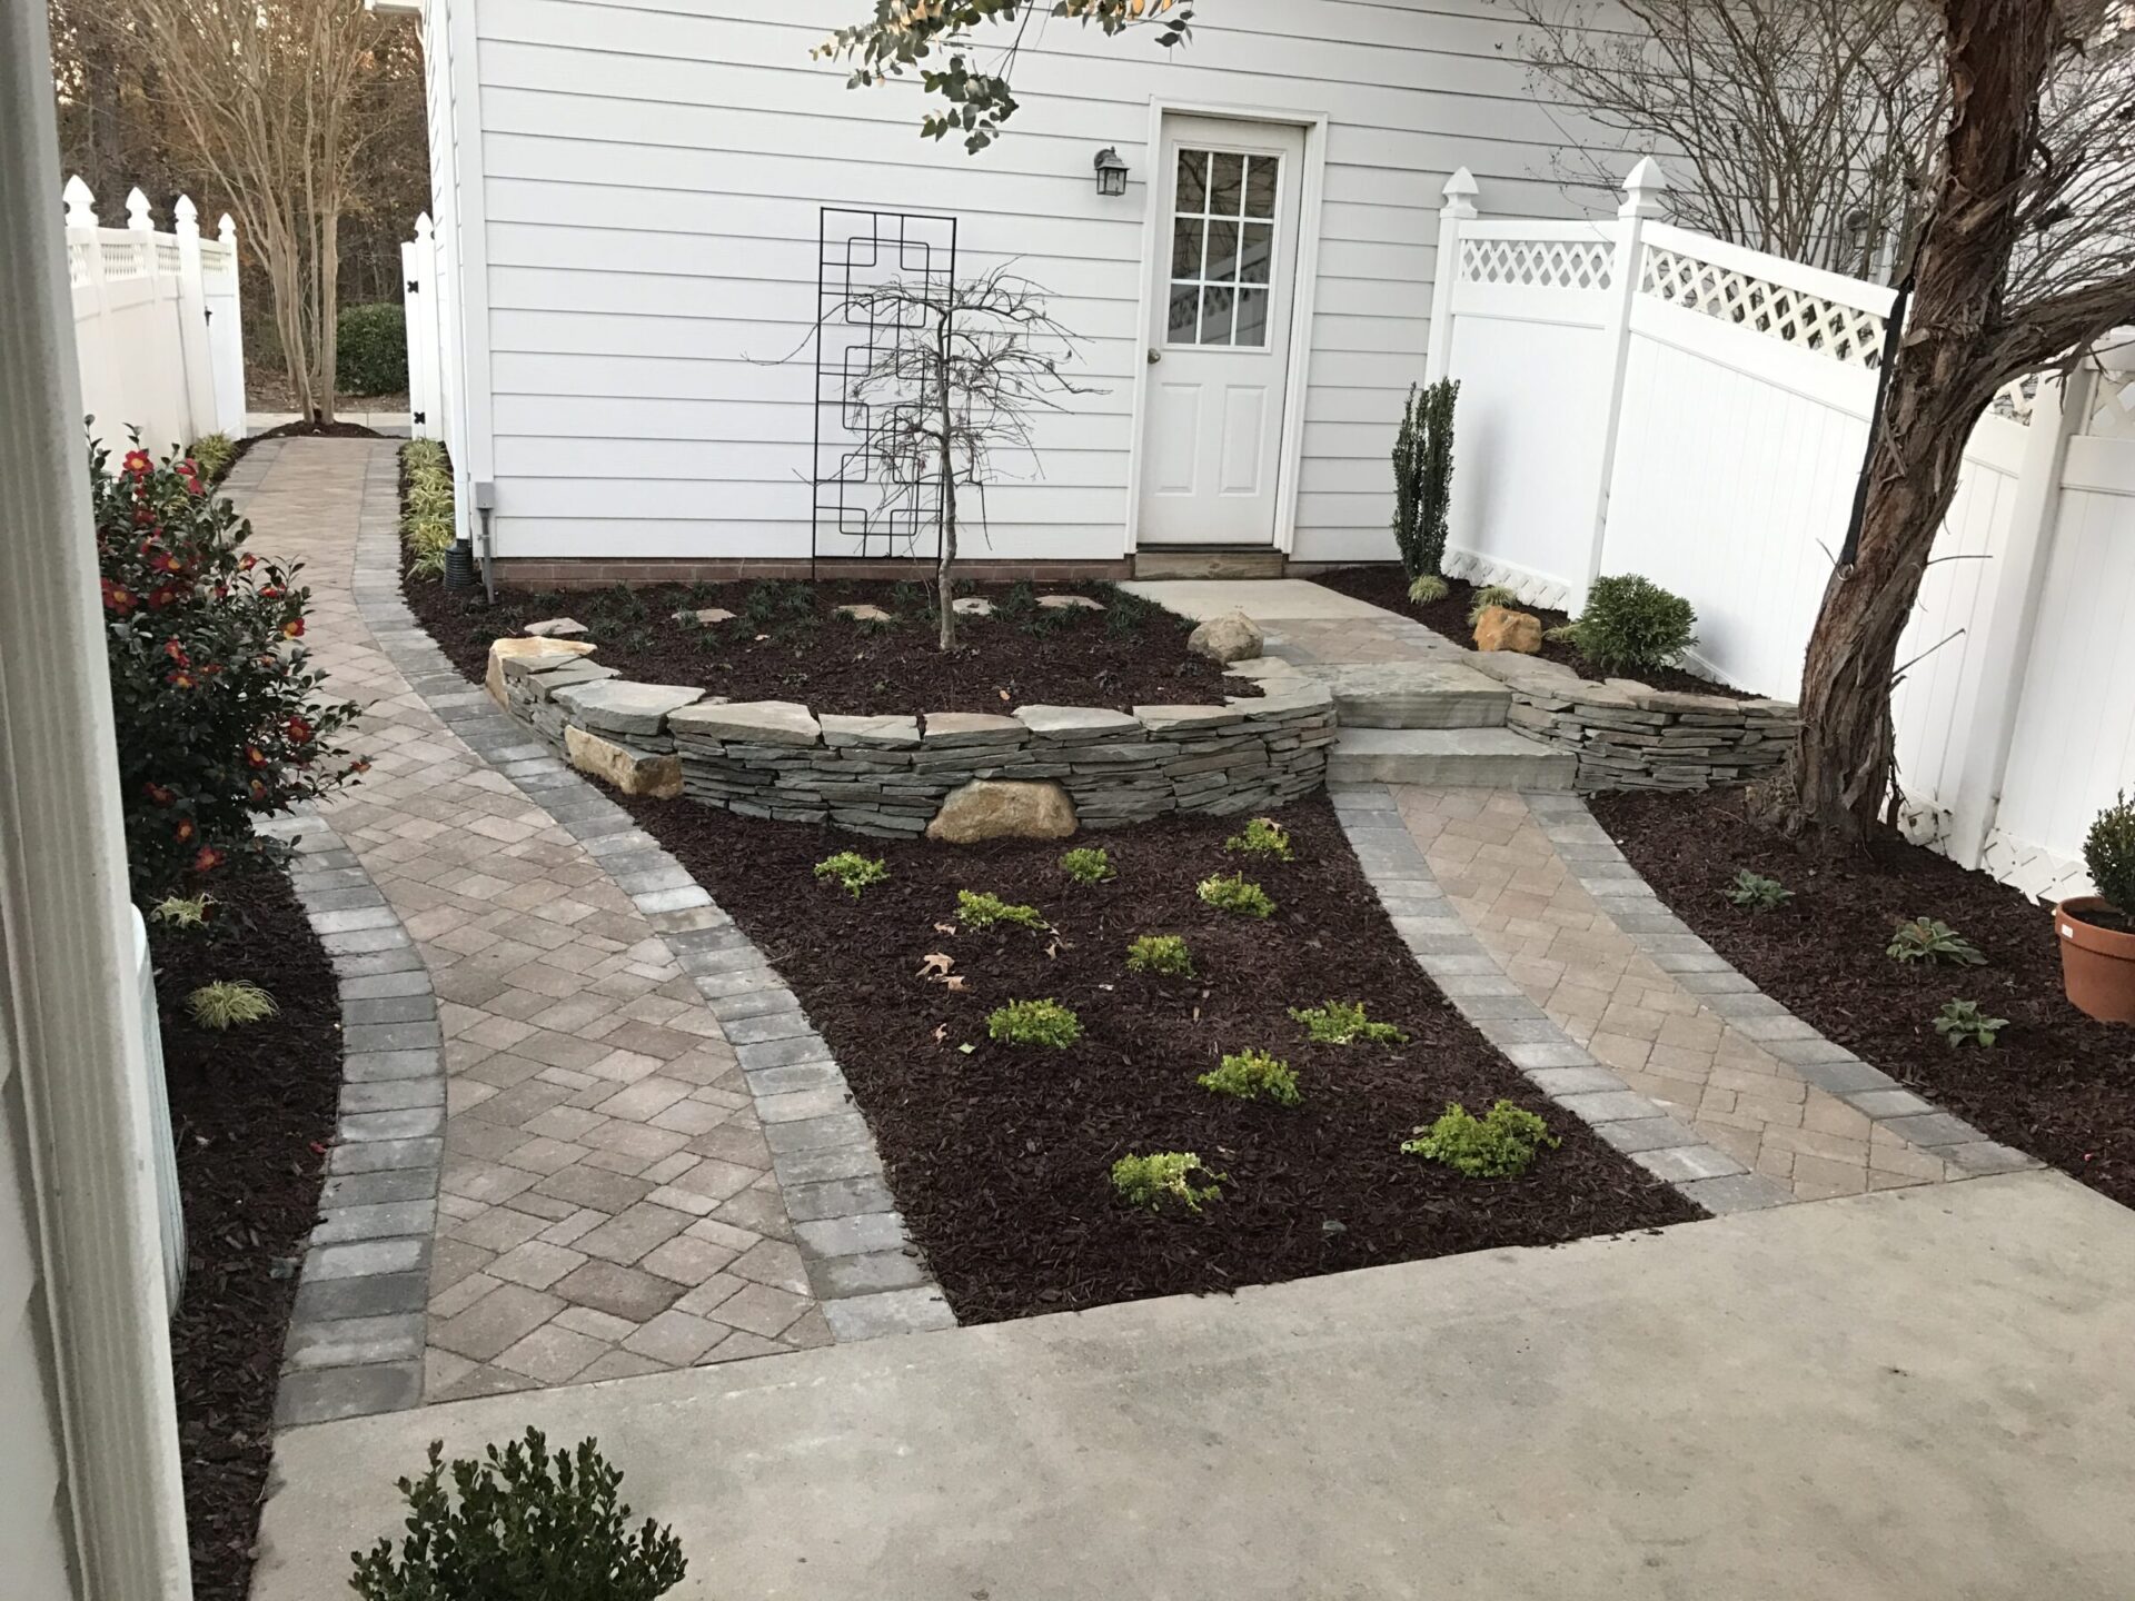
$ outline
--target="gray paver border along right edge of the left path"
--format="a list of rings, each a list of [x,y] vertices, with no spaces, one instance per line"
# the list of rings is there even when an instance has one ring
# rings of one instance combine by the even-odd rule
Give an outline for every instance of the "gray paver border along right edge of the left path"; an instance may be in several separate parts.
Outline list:
[[[741,1029],[762,1037],[730,1044],[771,1140],[771,1168],[833,1338],[952,1328],[956,1317],[888,1200],[882,1153],[867,1121],[858,1110],[792,1121],[788,1108],[796,1091],[820,1095],[826,1108],[854,1108],[856,1101],[831,1048],[769,958],[628,811],[506,715],[487,689],[468,683],[408,611],[399,587],[395,450],[371,446],[352,574],[357,611],[378,649],[461,743],[547,811],[630,894],[722,1025],[790,1014],[790,1025]],[[796,1078],[801,1069],[809,1072]]]

